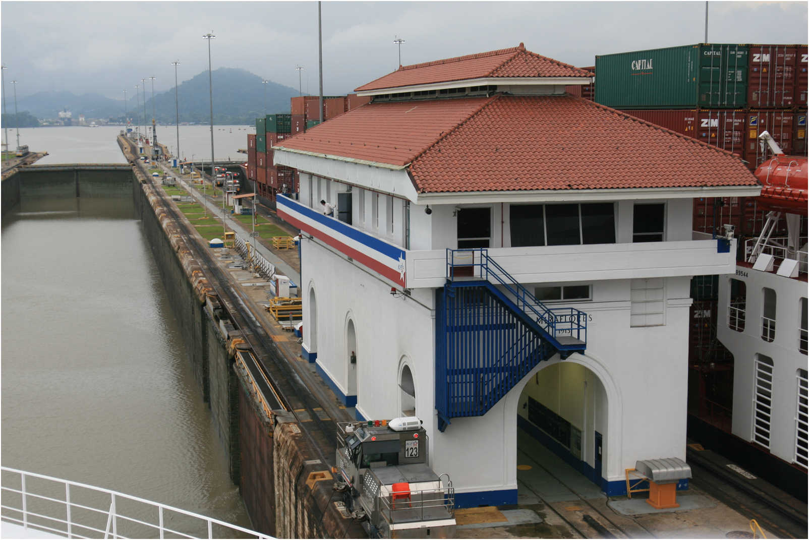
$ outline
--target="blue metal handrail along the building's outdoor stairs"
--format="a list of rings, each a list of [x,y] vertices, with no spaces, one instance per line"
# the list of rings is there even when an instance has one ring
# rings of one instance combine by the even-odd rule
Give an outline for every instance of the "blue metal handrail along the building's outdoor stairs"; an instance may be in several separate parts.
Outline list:
[[[455,252],[472,253],[472,264],[455,264]],[[476,262],[475,253],[479,253]],[[464,261],[465,262],[465,261]],[[542,302],[529,292],[523,285],[519,284],[513,277],[497,261],[489,257],[489,251],[485,247],[475,247],[466,249],[447,248],[447,279],[452,280],[454,277],[454,268],[457,266],[472,266],[472,268],[481,268],[481,279],[489,281],[489,276],[492,276],[495,281],[504,286],[506,290],[515,297],[517,307],[523,312],[531,312],[536,315],[536,323],[547,331],[553,338],[559,335],[570,335],[577,340],[587,341],[587,314],[582,310],[577,310],[573,307],[549,308],[544,306]],[[472,271],[474,273],[474,270]],[[500,273],[498,273],[500,272]],[[502,275],[501,275],[502,274]],[[506,281],[507,276],[510,281]],[[527,313],[528,314],[528,313]],[[530,314],[529,314],[530,315]],[[583,324],[582,324],[583,321]],[[558,325],[562,325],[559,328]],[[567,327],[565,327],[565,325]],[[574,330],[576,335],[574,336]],[[584,338],[582,339],[582,333]]]

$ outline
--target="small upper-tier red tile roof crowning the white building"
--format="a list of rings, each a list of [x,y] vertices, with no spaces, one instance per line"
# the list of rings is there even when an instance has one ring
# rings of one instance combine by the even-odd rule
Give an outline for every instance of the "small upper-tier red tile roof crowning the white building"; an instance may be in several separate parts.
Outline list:
[[[489,77],[591,77],[587,70],[525,50],[510,49],[469,54],[425,64],[404,65],[391,74],[359,86],[354,91],[380,90],[437,82]]]

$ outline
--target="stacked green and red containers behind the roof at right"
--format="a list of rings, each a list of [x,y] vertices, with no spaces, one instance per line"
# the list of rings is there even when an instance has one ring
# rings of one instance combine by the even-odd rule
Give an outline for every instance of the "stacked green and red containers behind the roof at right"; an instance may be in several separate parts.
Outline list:
[[[736,154],[751,171],[769,158],[765,129],[786,154],[807,154],[807,45],[694,44],[595,57],[595,101]],[[584,88],[581,89],[582,97]],[[755,235],[753,198],[694,201],[693,229]]]

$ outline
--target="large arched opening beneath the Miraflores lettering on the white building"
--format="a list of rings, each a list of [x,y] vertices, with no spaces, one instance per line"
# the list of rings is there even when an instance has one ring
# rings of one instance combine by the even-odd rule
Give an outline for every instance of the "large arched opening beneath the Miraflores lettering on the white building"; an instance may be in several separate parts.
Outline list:
[[[529,376],[517,407],[518,492],[538,494],[542,477],[575,486],[578,494],[602,496],[608,402],[599,376],[581,362],[549,363]]]

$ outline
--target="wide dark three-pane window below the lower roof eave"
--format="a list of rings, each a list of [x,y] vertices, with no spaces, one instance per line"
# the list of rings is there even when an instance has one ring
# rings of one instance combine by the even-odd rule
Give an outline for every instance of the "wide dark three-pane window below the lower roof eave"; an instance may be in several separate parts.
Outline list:
[[[615,205],[510,205],[511,247],[615,243]]]

